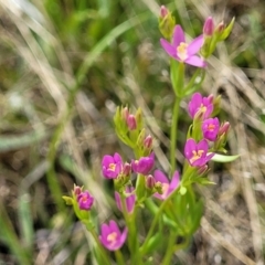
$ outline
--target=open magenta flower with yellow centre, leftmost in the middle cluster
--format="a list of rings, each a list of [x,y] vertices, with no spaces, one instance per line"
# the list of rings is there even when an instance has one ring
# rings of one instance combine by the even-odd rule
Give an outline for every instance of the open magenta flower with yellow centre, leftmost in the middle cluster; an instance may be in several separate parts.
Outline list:
[[[106,155],[102,160],[103,176],[107,179],[116,179],[123,170],[123,159],[115,152],[114,156]]]

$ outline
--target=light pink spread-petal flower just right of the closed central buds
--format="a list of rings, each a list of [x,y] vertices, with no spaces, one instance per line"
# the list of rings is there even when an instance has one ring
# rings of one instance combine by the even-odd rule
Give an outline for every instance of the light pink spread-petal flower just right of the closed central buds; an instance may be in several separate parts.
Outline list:
[[[162,186],[162,194],[159,194],[158,192],[153,194],[160,200],[166,200],[170,195],[170,193],[178,188],[180,181],[178,171],[173,173],[171,182],[169,182],[168,178],[160,170],[155,171],[153,178],[156,182],[160,182]]]

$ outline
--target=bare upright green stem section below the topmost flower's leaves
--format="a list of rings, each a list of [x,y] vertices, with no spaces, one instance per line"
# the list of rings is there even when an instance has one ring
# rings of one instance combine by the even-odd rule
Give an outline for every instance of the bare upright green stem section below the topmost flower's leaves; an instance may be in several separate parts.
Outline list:
[[[170,134],[170,165],[171,172],[176,170],[176,148],[177,148],[177,131],[178,131],[178,120],[179,120],[179,107],[180,107],[180,97],[177,97],[173,105],[173,115],[171,124],[171,134]]]

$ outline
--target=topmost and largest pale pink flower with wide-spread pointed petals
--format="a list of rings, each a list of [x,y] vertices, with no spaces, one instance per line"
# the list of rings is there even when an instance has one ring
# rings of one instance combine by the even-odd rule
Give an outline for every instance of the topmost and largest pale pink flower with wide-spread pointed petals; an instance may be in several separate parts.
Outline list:
[[[179,62],[187,63],[197,67],[205,67],[203,59],[195,55],[202,44],[203,35],[195,38],[190,44],[186,42],[184,32],[180,25],[174,26],[172,44],[165,39],[160,40],[163,50]]]

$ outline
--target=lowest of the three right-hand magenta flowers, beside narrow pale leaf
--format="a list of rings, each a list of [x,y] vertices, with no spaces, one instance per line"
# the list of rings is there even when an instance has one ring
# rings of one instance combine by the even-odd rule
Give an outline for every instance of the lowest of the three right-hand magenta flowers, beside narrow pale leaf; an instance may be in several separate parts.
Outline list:
[[[184,146],[184,156],[192,167],[202,167],[214,156],[214,153],[208,155],[208,149],[205,139],[197,144],[194,139],[190,138]]]

